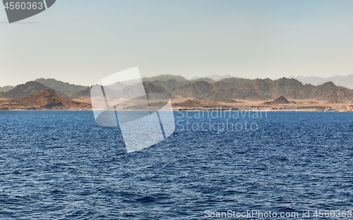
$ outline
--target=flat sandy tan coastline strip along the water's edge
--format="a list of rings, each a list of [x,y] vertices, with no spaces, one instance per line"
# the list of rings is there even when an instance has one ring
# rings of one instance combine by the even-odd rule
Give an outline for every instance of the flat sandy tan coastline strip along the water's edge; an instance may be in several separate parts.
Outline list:
[[[30,100],[23,104],[9,104],[9,100],[0,102],[0,111],[92,111],[92,106],[88,99],[74,99],[73,102],[36,103]],[[5,101],[5,102],[4,102]],[[160,100],[157,100],[160,101]],[[271,100],[198,100],[193,97],[175,98],[172,101],[172,109],[166,111],[353,111],[351,102],[330,103],[323,100],[291,100],[287,103],[277,103]],[[164,104],[155,104],[157,109],[161,109]],[[157,110],[155,109],[155,110]],[[104,109],[102,109],[104,110]],[[145,111],[146,106],[138,103],[123,104],[117,111]],[[160,110],[161,111],[161,110]]]

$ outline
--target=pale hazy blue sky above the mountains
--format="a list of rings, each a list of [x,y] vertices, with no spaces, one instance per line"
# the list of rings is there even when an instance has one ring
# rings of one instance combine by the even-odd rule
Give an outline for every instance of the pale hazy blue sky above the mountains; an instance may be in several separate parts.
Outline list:
[[[92,85],[134,66],[185,78],[348,75],[352,12],[352,0],[58,0],[8,24],[0,8],[0,86]]]

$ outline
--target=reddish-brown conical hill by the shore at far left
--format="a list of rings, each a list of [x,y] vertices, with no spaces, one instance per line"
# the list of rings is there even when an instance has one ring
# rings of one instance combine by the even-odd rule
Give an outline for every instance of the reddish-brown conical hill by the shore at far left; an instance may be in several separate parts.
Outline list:
[[[56,94],[52,89],[37,91],[30,96],[20,99],[3,100],[0,109],[27,109],[27,110],[74,110],[92,109],[90,104],[76,102],[67,97]]]

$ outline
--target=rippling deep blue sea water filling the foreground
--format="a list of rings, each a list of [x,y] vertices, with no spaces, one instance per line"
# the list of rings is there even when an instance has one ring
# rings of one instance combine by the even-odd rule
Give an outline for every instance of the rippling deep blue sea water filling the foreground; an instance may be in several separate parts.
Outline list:
[[[175,112],[169,138],[127,154],[119,128],[97,126],[91,111],[0,111],[0,219],[208,219],[228,210],[342,219],[313,214],[353,209],[352,113],[196,114]],[[222,130],[227,123],[238,127]]]

